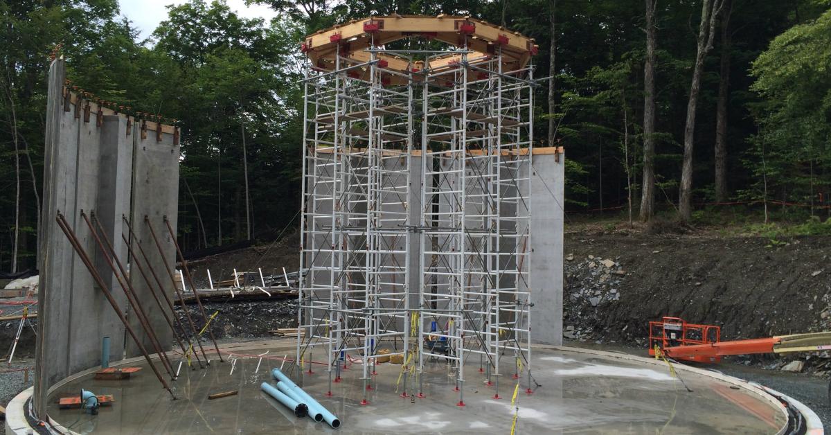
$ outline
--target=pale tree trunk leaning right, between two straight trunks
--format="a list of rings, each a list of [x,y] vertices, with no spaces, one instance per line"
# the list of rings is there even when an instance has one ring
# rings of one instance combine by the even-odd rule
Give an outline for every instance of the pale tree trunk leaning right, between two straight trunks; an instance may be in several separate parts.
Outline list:
[[[701,2],[701,23],[698,27],[696,65],[692,71],[690,98],[686,103],[686,124],[684,126],[684,161],[681,166],[681,189],[678,199],[678,214],[682,221],[692,217],[692,152],[696,131],[696,108],[701,91],[701,75],[704,72],[704,58],[713,47],[713,33],[722,0]]]

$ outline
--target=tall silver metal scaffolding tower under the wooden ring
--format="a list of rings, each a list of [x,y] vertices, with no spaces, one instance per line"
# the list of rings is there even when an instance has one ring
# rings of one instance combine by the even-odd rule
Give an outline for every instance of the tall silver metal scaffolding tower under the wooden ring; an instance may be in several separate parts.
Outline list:
[[[335,44],[303,81],[297,368],[325,353],[331,392],[360,360],[366,392],[376,358],[397,356],[406,397],[445,361],[464,405],[478,355],[495,397],[504,375],[524,371],[530,388],[534,67],[506,70],[501,45],[367,37],[360,56]]]

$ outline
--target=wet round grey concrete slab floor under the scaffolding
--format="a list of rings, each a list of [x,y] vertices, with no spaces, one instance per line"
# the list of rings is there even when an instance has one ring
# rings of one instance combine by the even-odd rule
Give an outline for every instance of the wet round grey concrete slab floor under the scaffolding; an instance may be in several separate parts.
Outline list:
[[[426,366],[426,397],[415,399],[399,397],[401,384],[396,391],[401,365],[377,365],[368,405],[360,404],[364,392],[360,363],[347,364],[342,382],[332,383],[331,398],[325,396],[324,364],[315,365],[315,373],[304,374],[297,383],[340,418],[341,428],[296,418],[259,388],[262,382],[273,383],[270,370],[281,361],[263,359],[256,369],[259,353],[270,350],[266,358],[283,358],[291,356],[292,349],[283,345],[232,350],[230,358],[238,358],[233,373],[229,362],[214,361],[204,370],[182,368],[173,383],[179,398],[175,401],[146,367],[124,381],[97,381],[87,375],[57,388],[53,396],[85,388],[112,394],[116,403],[102,407],[96,416],[58,409],[57,404],[52,404],[49,414],[76,433],[510,433],[511,395],[517,383],[513,370],[501,379],[501,398],[494,399],[495,386],[484,383],[475,356],[465,365],[465,407],[456,406],[455,374],[445,363]],[[767,399],[700,373],[679,372],[692,390],[688,392],[666,365],[540,348],[534,349],[531,361],[540,386],[528,395],[527,380],[520,378],[516,403],[520,434],[776,433],[785,422],[784,413]],[[234,389],[239,392],[236,396],[208,399],[211,393]]]

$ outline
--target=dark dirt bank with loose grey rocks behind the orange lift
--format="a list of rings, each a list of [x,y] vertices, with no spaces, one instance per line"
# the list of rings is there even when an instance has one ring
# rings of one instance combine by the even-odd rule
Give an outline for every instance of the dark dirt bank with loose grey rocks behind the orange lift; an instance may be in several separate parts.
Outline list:
[[[827,330],[829,246],[828,237],[568,234],[566,336],[645,345],[647,322],[665,315],[719,325],[722,339]]]

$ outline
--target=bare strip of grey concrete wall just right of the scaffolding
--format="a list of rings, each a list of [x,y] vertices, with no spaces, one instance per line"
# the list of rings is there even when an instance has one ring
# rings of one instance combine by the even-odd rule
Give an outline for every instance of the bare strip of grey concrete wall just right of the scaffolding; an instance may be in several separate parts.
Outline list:
[[[531,341],[563,344],[565,156],[534,153],[531,172]]]

